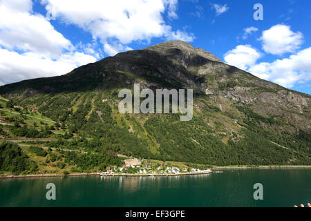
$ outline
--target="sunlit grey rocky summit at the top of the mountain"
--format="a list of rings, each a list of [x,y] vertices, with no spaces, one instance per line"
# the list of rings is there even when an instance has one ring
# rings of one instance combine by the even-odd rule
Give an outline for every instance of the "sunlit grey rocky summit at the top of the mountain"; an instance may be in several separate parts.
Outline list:
[[[188,42],[180,41],[180,40],[164,41],[160,44],[156,44],[154,46],[144,48],[144,50],[154,50],[160,53],[165,53],[167,52],[167,50],[172,50],[172,49],[182,50],[183,52],[186,52],[189,55],[194,55],[194,56],[199,55],[211,61],[222,62],[218,57],[211,54],[210,52],[207,52],[206,50],[203,50],[202,48],[194,48],[194,46],[192,46]]]

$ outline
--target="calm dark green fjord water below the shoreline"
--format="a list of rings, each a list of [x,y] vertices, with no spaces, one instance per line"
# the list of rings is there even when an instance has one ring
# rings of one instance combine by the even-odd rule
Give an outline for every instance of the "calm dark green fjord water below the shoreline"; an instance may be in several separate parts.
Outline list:
[[[293,206],[311,202],[311,169],[224,169],[176,177],[0,180],[0,206]],[[46,184],[56,200],[46,200]],[[253,186],[263,184],[263,200]]]

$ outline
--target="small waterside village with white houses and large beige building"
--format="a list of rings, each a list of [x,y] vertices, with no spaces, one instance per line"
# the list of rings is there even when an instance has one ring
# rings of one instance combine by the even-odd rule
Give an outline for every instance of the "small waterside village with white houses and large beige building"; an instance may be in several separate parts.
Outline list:
[[[130,158],[124,160],[124,166],[108,166],[106,171],[97,171],[100,175],[187,175],[211,173],[210,169],[190,169],[189,167],[180,168],[167,164],[158,164],[149,160],[138,160]]]

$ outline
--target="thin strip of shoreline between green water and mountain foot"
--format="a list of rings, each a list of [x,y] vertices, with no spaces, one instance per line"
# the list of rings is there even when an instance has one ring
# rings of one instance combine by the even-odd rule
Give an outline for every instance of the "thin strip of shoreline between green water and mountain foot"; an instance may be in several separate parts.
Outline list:
[[[115,174],[100,174],[100,173],[71,173],[68,175],[64,174],[32,174],[32,175],[6,175],[1,176],[2,179],[17,179],[17,178],[38,178],[38,177],[79,177],[79,176],[103,176],[103,177],[169,177],[178,175],[204,175],[213,173],[213,170],[219,169],[311,169],[311,166],[216,166],[211,168],[211,171],[197,172],[197,173],[164,173],[164,174],[126,174],[126,173],[115,173]]]

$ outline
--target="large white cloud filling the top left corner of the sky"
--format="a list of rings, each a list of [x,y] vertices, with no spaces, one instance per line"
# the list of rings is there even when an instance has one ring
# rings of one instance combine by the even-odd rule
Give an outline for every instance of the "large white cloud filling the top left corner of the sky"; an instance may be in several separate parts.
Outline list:
[[[73,46],[43,16],[31,15],[31,1],[0,1],[0,46],[56,58]]]

